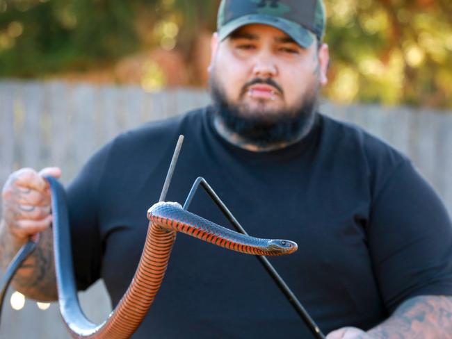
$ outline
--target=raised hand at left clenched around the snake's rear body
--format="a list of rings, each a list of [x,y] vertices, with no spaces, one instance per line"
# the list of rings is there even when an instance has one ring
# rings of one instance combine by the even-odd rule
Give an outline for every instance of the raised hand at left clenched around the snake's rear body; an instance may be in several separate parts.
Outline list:
[[[59,178],[61,170],[47,167],[38,173],[31,168],[19,169],[3,186],[3,219],[6,230],[17,242],[26,242],[51,224],[50,192],[45,175]]]

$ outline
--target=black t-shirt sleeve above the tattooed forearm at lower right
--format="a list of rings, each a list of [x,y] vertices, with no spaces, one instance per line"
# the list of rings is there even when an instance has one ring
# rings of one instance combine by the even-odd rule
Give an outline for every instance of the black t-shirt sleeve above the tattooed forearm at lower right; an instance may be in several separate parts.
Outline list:
[[[417,295],[452,295],[451,219],[409,161],[376,190],[367,235],[389,312]]]

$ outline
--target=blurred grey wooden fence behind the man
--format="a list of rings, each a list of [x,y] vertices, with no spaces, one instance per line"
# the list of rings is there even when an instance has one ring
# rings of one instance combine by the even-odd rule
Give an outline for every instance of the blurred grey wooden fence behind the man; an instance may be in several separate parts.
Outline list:
[[[208,103],[208,94],[199,90],[150,94],[137,87],[0,81],[0,183],[19,167],[49,165],[61,167],[67,183],[95,149],[121,131]],[[452,114],[328,102],[321,111],[363,126],[407,154],[452,212]],[[13,311],[10,293],[1,338],[68,338],[55,304],[40,311],[28,300],[22,311]],[[108,314],[102,282],[81,293],[81,301],[94,321]]]

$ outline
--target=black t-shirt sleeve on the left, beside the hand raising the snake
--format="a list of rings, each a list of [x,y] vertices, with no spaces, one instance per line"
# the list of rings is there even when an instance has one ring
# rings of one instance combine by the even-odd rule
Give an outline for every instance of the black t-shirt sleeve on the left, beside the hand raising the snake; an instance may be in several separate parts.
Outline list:
[[[85,290],[100,276],[102,239],[98,207],[102,192],[99,192],[99,185],[110,148],[111,144],[107,144],[92,156],[67,187],[72,256],[79,290]]]

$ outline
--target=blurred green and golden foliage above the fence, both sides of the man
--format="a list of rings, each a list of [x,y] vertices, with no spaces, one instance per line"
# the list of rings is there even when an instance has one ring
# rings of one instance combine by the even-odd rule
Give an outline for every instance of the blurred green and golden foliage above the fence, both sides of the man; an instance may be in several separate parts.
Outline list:
[[[190,65],[219,0],[0,0],[0,76],[47,76],[176,48]],[[452,108],[450,0],[325,0],[337,101]]]

